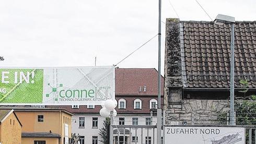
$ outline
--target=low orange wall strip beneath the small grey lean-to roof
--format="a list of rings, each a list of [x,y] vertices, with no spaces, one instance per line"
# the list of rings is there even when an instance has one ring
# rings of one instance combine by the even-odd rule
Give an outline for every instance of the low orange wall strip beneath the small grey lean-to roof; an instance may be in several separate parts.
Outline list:
[[[22,137],[22,144],[32,144],[34,140],[45,140],[46,144],[59,144],[59,138],[24,138]]]

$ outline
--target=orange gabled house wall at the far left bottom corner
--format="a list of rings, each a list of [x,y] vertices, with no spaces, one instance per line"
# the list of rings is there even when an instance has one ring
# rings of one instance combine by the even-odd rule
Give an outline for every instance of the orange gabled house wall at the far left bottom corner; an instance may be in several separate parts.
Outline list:
[[[2,144],[21,144],[21,125],[14,113],[11,113],[0,126]]]

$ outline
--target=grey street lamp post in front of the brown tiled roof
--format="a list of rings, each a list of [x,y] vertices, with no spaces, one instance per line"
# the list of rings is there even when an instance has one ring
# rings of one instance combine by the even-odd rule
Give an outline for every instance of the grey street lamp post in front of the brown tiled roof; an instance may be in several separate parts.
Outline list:
[[[216,19],[214,20],[214,23],[216,25],[224,25],[224,23],[230,23],[231,24],[231,43],[230,43],[230,49],[231,49],[231,56],[230,56],[230,125],[236,125],[235,123],[235,108],[234,108],[234,39],[235,39],[235,18],[226,16],[226,15],[220,15],[218,14]]]

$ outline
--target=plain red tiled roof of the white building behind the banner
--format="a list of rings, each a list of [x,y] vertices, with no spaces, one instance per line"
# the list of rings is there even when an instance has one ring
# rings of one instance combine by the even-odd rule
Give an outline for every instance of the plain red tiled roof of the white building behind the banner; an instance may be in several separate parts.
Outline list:
[[[143,91],[144,86],[146,92]],[[158,71],[155,68],[116,68],[115,95],[158,95]],[[162,76],[161,95],[164,95]]]

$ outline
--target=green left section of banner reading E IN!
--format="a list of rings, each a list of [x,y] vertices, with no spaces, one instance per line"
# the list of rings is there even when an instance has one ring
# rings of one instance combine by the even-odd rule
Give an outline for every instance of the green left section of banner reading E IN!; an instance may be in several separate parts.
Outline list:
[[[42,103],[43,69],[0,69],[0,103]]]

